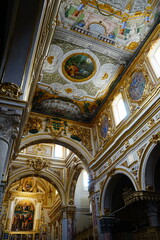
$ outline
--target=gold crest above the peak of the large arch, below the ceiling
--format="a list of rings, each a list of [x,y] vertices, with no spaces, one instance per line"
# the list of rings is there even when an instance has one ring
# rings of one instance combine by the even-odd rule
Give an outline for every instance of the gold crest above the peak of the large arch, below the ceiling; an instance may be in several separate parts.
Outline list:
[[[61,137],[66,134],[67,122],[58,118],[46,119],[46,131],[50,132],[53,138]]]

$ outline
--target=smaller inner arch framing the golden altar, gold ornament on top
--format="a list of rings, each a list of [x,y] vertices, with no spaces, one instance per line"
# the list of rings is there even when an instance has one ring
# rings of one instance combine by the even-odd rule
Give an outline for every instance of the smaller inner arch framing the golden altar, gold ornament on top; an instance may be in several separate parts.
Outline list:
[[[66,195],[65,195],[65,190],[64,190],[63,184],[54,175],[53,172],[49,172],[49,171],[41,171],[41,172],[37,173],[34,170],[31,170],[28,168],[27,169],[25,168],[24,170],[22,170],[22,168],[20,168],[18,171],[16,171],[13,175],[11,175],[9,177],[8,185],[5,190],[5,193],[7,193],[8,189],[12,183],[14,183],[17,180],[20,180],[22,178],[26,178],[26,177],[39,177],[39,178],[43,178],[43,179],[47,180],[48,182],[50,182],[57,189],[58,193],[60,194],[62,204],[63,205],[66,204]],[[5,199],[5,196],[4,196],[4,199]]]

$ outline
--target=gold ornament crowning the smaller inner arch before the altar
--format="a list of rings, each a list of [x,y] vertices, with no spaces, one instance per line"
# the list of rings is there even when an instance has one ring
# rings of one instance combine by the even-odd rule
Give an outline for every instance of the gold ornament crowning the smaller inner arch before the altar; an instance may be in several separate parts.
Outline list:
[[[33,167],[36,171],[41,171],[43,168],[48,167],[50,162],[44,158],[28,159],[28,164]]]

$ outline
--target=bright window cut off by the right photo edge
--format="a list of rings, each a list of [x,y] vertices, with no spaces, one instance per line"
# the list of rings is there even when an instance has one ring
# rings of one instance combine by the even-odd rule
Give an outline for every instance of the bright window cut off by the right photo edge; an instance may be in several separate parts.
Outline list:
[[[151,63],[151,66],[156,74],[160,77],[160,40],[158,40],[151,48],[148,53],[148,58]]]

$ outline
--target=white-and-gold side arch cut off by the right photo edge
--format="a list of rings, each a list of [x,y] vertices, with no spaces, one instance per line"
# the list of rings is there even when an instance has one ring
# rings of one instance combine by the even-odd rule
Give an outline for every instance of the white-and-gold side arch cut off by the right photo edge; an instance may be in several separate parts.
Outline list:
[[[154,142],[149,143],[143,152],[139,167],[139,181],[142,190],[146,190],[147,185],[154,186],[154,172],[159,157],[160,146]]]

